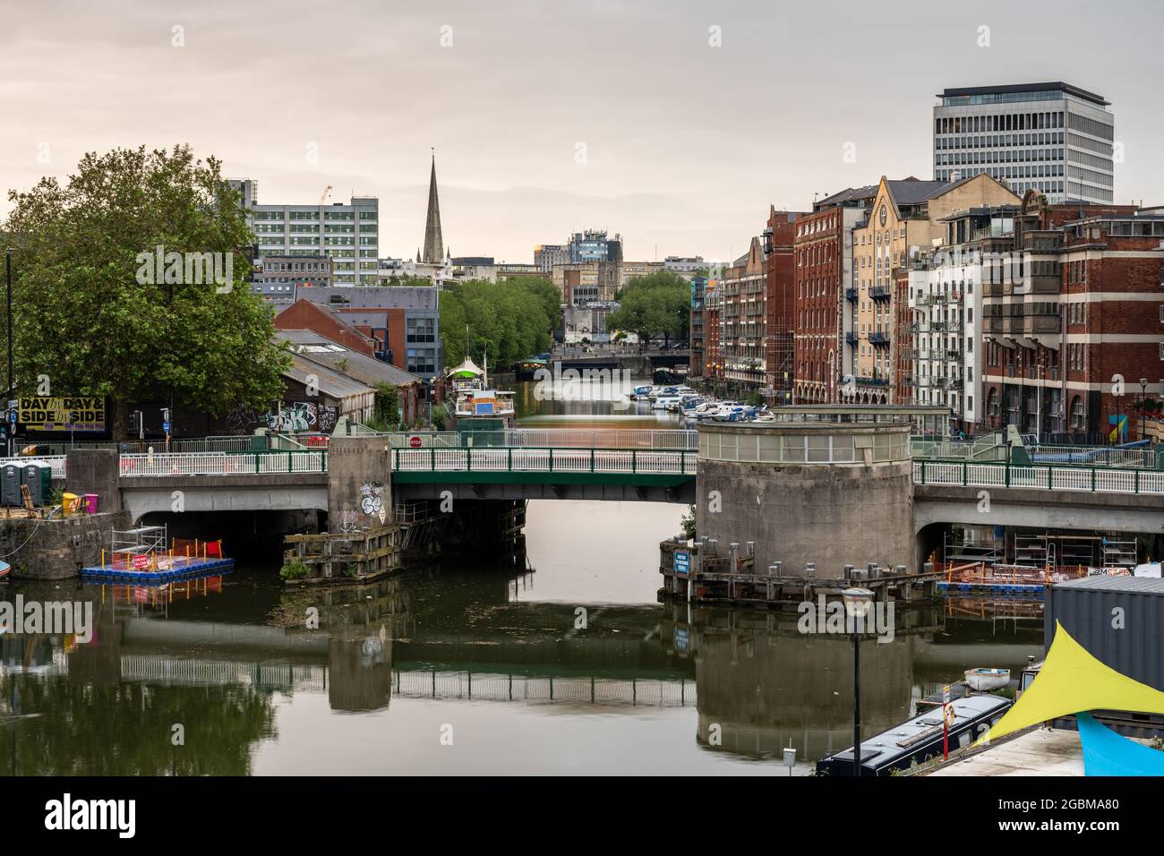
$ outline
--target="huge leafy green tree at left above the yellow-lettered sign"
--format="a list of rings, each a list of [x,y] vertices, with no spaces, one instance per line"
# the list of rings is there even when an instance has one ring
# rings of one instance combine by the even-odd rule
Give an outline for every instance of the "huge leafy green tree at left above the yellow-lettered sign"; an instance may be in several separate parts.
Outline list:
[[[219,161],[189,146],[87,154],[63,186],[42,178],[8,198],[21,395],[47,376],[52,395],[107,396],[119,438],[135,401],[221,415],[278,396],[290,356],[247,284],[254,238]],[[229,256],[230,280],[194,284],[185,266],[143,271],[141,254],[158,246],[222,254],[221,274]]]

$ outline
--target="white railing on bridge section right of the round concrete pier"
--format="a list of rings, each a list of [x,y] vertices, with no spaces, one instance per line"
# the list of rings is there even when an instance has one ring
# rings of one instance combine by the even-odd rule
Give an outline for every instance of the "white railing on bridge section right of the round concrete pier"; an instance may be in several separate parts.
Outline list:
[[[1110,467],[914,461],[914,483],[1103,494],[1164,494],[1164,473]]]

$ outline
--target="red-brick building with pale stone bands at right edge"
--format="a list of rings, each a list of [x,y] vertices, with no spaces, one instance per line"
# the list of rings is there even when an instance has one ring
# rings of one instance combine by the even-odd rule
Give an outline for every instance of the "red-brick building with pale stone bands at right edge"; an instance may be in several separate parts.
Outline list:
[[[1127,439],[1116,417],[1164,379],[1164,208],[1031,191],[1014,246],[1015,273],[982,283],[986,426]]]

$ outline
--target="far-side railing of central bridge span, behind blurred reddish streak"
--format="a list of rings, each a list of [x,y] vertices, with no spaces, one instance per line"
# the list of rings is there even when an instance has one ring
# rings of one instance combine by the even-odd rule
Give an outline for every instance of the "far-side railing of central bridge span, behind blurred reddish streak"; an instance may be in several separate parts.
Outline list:
[[[608,429],[510,429],[506,431],[397,431],[385,434],[393,448],[489,447],[570,447],[570,448],[644,448],[694,452],[698,431]]]

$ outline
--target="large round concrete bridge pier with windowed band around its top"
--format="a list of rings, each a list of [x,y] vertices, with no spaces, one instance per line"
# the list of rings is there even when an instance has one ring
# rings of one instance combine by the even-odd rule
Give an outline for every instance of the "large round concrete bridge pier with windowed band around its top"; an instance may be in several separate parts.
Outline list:
[[[789,419],[702,424],[696,532],[755,543],[755,568],[839,578],[845,565],[916,566],[909,426]],[[807,570],[808,563],[815,568]]]

